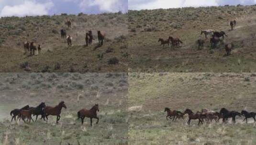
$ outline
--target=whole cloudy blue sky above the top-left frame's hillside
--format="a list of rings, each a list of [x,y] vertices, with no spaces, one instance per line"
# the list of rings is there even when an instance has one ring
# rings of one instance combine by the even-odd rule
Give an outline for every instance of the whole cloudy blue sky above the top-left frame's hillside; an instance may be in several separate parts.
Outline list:
[[[0,17],[37,16],[61,13],[126,13],[128,0],[0,0]]]

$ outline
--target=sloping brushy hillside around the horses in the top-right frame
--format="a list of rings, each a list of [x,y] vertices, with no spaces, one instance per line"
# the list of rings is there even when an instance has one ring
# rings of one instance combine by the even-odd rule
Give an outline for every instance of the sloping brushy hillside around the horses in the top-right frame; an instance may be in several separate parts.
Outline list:
[[[222,6],[129,11],[129,72],[255,72],[256,6]],[[230,31],[229,22],[237,26]],[[209,39],[202,50],[196,41],[201,30],[225,31],[228,37],[217,49]],[[163,49],[159,38],[178,37],[180,48]],[[226,57],[225,43],[233,43]]]

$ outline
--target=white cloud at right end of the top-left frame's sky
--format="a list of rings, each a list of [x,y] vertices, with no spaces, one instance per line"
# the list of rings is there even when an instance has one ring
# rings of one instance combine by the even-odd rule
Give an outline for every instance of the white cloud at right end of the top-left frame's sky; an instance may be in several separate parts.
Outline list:
[[[127,7],[123,0],[82,0],[79,4],[79,7],[82,10],[86,10],[93,6],[98,7],[102,12],[124,11],[125,7]]]

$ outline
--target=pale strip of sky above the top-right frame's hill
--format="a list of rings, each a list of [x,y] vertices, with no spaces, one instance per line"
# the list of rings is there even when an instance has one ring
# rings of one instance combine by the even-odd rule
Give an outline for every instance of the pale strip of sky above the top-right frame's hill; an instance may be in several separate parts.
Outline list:
[[[129,0],[129,10],[152,10],[181,7],[254,5],[256,0]]]

